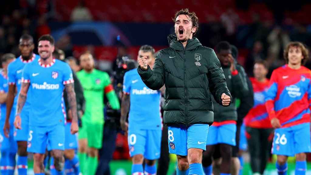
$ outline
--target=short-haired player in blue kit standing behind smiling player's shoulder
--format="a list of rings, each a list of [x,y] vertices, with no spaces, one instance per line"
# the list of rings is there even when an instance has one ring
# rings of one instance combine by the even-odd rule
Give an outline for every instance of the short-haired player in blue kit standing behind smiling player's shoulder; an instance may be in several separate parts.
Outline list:
[[[10,113],[14,106],[17,103],[17,94],[21,90],[21,77],[22,71],[26,64],[31,63],[39,59],[39,55],[33,53],[35,48],[33,38],[30,35],[22,35],[19,41],[19,49],[21,51],[21,56],[19,56],[15,61],[8,65],[8,83],[9,91],[7,92],[7,113],[4,124],[4,134],[6,137],[9,137],[10,132]],[[21,130],[14,131],[14,139],[17,141],[18,145],[18,158],[17,158],[17,168],[18,174],[27,173],[27,140],[28,140],[28,120],[30,113],[30,100],[27,100],[25,103],[24,109],[21,111],[21,118],[23,119],[23,125]]]

